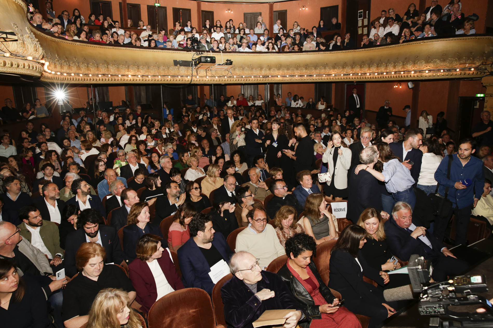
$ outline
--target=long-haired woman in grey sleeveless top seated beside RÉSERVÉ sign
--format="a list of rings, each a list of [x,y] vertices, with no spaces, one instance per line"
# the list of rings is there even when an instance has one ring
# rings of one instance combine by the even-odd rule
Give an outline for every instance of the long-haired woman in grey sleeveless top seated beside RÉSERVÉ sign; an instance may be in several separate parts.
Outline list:
[[[305,216],[303,216],[303,228],[312,236],[317,244],[324,241],[337,239],[336,218],[327,210],[327,202],[323,194],[308,195],[305,201]]]

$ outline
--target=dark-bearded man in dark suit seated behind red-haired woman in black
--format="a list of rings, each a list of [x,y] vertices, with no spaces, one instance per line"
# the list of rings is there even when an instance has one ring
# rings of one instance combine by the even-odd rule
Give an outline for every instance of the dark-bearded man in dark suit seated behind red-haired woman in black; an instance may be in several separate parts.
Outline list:
[[[85,181],[83,182],[85,183]],[[75,180],[72,185],[78,183],[80,182]],[[84,242],[91,241],[105,248],[106,264],[114,263],[121,265],[123,263],[123,252],[115,228],[105,225],[103,216],[98,210],[88,208],[80,212],[77,217],[77,230],[71,232],[65,242],[65,273],[68,276],[71,277],[78,272],[75,265],[75,254],[80,245]]]

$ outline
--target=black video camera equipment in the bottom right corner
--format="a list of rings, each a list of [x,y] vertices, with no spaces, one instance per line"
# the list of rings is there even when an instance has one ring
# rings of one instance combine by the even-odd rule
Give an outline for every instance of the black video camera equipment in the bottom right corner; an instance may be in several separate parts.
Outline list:
[[[418,311],[421,315],[440,316],[444,319],[455,320],[461,323],[461,327],[492,327],[493,308],[492,303],[483,296],[475,293],[488,292],[486,276],[462,275],[440,283],[429,282],[433,267],[429,260],[417,254],[411,255],[408,264],[409,278],[413,291],[421,293]],[[464,296],[458,297],[457,294]],[[455,312],[450,310],[450,305],[475,305],[481,304],[486,308],[484,313]],[[452,327],[453,324],[441,318],[430,318],[429,327]]]

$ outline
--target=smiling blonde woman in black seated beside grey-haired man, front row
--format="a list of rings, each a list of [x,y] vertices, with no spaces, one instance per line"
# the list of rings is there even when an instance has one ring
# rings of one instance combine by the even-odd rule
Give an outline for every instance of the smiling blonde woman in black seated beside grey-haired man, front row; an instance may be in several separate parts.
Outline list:
[[[392,218],[389,218],[392,220]],[[392,253],[385,240],[384,222],[380,212],[374,208],[365,209],[359,216],[357,225],[366,231],[366,244],[361,248],[361,255],[370,267],[382,271],[393,271],[400,268],[397,260],[390,261]],[[390,289],[411,284],[408,273],[395,273],[391,276],[390,282],[381,290]],[[378,286],[379,288],[381,286]]]

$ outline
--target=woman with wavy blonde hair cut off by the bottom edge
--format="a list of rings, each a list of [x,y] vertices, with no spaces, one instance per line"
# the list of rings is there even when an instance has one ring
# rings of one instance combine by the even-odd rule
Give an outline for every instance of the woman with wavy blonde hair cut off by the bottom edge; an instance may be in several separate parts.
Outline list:
[[[86,328],[141,328],[139,315],[129,308],[129,300],[121,289],[101,290],[92,303]]]

